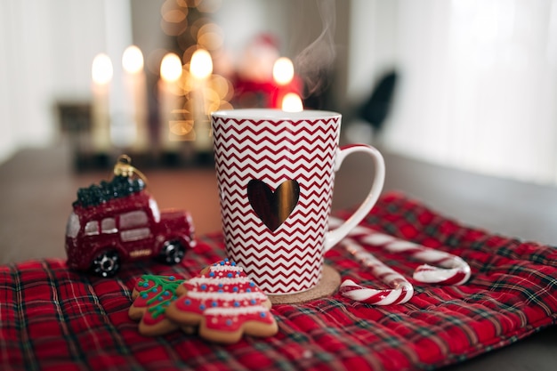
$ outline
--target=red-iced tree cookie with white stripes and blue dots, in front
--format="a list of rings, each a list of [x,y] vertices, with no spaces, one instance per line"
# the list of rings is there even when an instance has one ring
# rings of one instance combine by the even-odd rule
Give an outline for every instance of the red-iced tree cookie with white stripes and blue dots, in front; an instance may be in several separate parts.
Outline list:
[[[228,259],[184,281],[178,294],[165,310],[167,318],[181,327],[198,327],[206,340],[236,343],[243,334],[271,336],[278,331],[268,297]]]

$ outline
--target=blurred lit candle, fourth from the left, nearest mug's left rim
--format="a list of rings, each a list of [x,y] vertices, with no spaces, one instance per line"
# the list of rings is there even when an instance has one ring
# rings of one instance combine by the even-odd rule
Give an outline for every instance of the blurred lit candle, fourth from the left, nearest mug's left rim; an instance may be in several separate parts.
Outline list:
[[[196,131],[194,148],[197,152],[208,152],[211,149],[210,126],[206,108],[206,80],[213,73],[211,54],[204,49],[198,49],[190,60],[190,74],[193,77],[193,120]]]

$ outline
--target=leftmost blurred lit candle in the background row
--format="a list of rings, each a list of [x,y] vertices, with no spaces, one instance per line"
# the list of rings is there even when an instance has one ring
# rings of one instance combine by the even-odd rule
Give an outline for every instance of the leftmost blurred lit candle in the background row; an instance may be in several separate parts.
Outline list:
[[[106,155],[110,149],[109,93],[113,73],[112,62],[107,54],[100,53],[95,56],[91,68],[93,80],[91,136],[95,154]]]

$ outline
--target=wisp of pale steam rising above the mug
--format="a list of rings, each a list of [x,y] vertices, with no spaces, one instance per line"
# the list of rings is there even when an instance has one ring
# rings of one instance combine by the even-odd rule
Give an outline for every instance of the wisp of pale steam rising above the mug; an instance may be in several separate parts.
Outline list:
[[[295,57],[295,70],[305,80],[307,95],[327,86],[327,73],[335,62],[335,0],[317,2],[323,29],[318,38]]]

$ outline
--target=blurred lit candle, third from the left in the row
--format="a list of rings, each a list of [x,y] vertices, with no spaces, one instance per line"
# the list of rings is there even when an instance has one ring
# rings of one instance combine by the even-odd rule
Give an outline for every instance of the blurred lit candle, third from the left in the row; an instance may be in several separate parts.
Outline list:
[[[162,148],[167,151],[175,151],[178,147],[177,141],[171,141],[170,125],[173,121],[173,111],[177,107],[177,81],[182,77],[182,60],[173,52],[165,55],[160,63],[160,80],[158,81],[158,107],[160,141]]]

